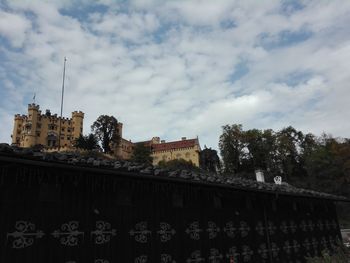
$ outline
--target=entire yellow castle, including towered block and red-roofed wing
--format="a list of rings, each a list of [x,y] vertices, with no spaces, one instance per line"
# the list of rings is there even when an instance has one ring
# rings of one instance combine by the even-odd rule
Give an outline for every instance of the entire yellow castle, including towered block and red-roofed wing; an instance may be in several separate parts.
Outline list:
[[[52,115],[49,110],[42,114],[39,105],[34,103],[28,105],[28,115],[15,115],[12,144],[19,147],[33,147],[42,145],[50,150],[63,150],[72,148],[75,139],[83,133],[84,113],[72,112],[72,118],[60,118],[57,114]],[[121,138],[119,144],[113,148],[113,155],[121,159],[130,159],[135,143],[123,138],[123,123],[117,124],[117,134]],[[153,137],[144,142],[150,147],[153,164],[160,161],[171,161],[184,159],[199,166],[199,153],[201,151],[198,138],[165,142],[159,137]]]

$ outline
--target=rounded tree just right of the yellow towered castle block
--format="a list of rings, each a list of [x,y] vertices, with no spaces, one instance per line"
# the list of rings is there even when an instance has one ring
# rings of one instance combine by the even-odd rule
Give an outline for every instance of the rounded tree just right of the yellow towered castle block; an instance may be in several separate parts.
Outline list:
[[[101,115],[92,124],[91,130],[101,143],[104,153],[111,153],[111,147],[120,143],[120,136],[117,131],[118,121],[113,116]]]

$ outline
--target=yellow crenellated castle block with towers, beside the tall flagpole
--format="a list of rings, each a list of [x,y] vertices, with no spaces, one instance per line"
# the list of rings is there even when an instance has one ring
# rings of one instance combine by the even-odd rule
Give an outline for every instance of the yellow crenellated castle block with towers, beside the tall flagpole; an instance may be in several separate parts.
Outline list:
[[[28,104],[27,115],[15,115],[12,144],[24,148],[35,145],[69,148],[83,133],[83,120],[81,111],[72,112],[71,118],[60,118],[49,110],[42,114],[39,105]]]

